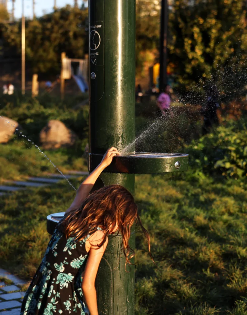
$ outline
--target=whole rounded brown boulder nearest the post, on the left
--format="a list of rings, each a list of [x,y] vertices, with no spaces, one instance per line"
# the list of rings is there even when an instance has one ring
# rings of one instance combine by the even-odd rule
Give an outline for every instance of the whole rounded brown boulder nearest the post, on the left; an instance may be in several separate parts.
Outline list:
[[[44,149],[58,149],[61,146],[72,146],[76,135],[59,120],[50,120],[41,130],[39,140]]]

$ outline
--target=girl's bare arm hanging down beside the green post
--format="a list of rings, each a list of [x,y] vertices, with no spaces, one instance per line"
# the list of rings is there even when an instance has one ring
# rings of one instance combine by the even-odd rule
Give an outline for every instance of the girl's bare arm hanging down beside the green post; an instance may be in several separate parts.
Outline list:
[[[96,297],[96,289],[95,289],[95,278],[98,272],[98,268],[100,265],[101,258],[105,252],[108,238],[106,242],[98,247],[97,244],[100,244],[104,238],[103,231],[97,231],[91,235],[89,238],[90,250],[88,260],[85,266],[85,271],[82,279],[82,290],[83,295],[89,309],[90,315],[98,315],[98,307],[97,307],[97,297]],[[88,242],[87,241],[87,242]]]

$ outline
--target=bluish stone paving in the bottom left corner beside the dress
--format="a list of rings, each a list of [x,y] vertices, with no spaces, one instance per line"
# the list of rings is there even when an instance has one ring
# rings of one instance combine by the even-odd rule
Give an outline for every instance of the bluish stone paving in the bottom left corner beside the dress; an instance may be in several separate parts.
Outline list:
[[[0,315],[20,315],[20,306],[25,292],[21,286],[26,282],[0,269]]]

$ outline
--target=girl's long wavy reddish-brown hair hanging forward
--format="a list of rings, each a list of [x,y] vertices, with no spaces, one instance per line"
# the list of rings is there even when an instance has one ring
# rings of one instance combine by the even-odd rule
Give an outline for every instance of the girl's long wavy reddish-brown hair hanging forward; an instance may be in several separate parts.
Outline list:
[[[151,256],[150,237],[141,223],[133,196],[120,185],[110,185],[91,193],[78,209],[69,211],[61,221],[59,230],[64,232],[66,238],[72,237],[76,241],[81,241],[100,227],[105,232],[104,239],[98,244],[100,247],[106,241],[111,225],[117,223],[118,233],[123,238],[121,249],[126,258],[126,268],[126,264],[130,265],[130,259],[135,255],[129,246],[129,238],[131,226],[137,222],[147,239]]]

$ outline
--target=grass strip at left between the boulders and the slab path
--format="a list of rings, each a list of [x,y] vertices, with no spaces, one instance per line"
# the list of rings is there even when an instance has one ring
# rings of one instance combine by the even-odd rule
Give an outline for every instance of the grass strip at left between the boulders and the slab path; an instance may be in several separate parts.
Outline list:
[[[82,157],[81,148],[42,152],[62,172],[71,169],[87,171],[87,163]],[[7,144],[1,144],[0,182],[25,179],[28,176],[43,176],[45,173],[58,173],[44,155],[30,142],[17,137]]]

